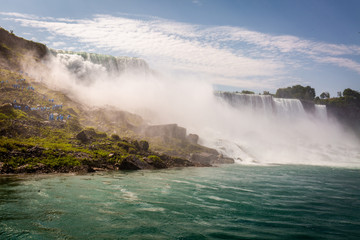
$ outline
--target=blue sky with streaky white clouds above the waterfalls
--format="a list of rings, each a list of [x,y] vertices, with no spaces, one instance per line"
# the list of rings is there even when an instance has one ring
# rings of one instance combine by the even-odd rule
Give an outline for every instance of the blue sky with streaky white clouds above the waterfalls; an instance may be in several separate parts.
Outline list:
[[[5,29],[55,49],[145,59],[220,89],[360,90],[360,1],[0,0]]]

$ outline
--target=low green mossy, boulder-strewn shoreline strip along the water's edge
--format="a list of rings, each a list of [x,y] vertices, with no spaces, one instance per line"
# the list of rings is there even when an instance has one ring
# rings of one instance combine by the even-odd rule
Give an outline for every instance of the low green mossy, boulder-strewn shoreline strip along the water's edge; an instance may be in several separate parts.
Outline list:
[[[150,150],[147,141],[107,137],[94,129],[82,130],[71,149],[50,149],[27,143],[1,143],[0,174],[91,173],[96,171],[153,170],[211,167],[233,163],[215,150],[190,154],[189,159]]]

